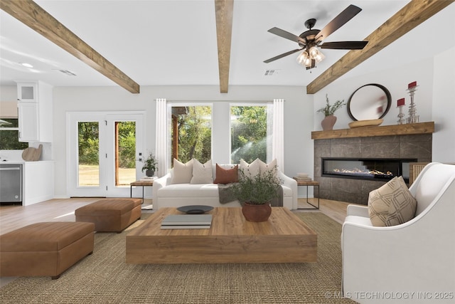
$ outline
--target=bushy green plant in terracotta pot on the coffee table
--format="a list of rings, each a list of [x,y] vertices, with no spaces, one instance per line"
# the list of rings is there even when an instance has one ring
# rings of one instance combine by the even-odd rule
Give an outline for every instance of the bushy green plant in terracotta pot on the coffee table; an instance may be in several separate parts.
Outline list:
[[[232,194],[242,203],[247,221],[267,221],[272,213],[270,202],[279,197],[281,187],[277,166],[255,176],[239,169],[239,181],[232,184]]]

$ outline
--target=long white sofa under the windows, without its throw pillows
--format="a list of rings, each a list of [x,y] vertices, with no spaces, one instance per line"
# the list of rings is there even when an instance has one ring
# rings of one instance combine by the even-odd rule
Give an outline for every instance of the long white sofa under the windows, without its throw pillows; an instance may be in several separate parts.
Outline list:
[[[215,166],[213,166],[215,167]],[[232,164],[220,164],[229,169]],[[172,169],[164,177],[154,180],[154,210],[162,207],[180,207],[188,205],[207,205],[213,207],[238,207],[238,201],[221,204],[218,196],[218,184],[171,184]],[[283,184],[283,206],[297,209],[297,182],[278,171]],[[215,169],[213,169],[215,179]]]

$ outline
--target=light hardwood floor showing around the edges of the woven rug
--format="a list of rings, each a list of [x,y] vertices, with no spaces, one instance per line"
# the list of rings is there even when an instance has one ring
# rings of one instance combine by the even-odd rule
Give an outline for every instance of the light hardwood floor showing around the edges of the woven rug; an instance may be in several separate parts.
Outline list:
[[[41,221],[75,221],[74,211],[80,206],[85,206],[100,198],[71,198],[71,199],[50,199],[38,204],[29,206],[0,206],[0,234],[27,226]],[[309,199],[311,201],[312,199]],[[151,200],[144,204],[151,204]],[[312,204],[317,204],[316,199]],[[331,201],[321,199],[320,210],[323,214],[331,217],[338,223],[343,223],[346,216],[346,208],[349,203],[343,201]],[[306,199],[299,199],[299,208],[307,208]],[[318,210],[296,210],[296,212],[314,212]],[[153,211],[143,211],[153,212]]]

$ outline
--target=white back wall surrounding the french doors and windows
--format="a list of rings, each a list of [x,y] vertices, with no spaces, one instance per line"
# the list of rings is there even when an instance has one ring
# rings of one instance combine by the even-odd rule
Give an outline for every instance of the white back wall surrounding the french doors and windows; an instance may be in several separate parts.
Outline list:
[[[156,98],[169,101],[252,102],[283,98],[284,103],[284,172],[313,174],[313,142],[309,132],[313,126],[312,96],[305,88],[284,86],[231,86],[229,93],[221,94],[218,85],[141,87],[141,93],[132,94],[118,87],[54,88],[54,156],[55,196],[66,197],[66,113],[68,111],[132,111],[146,112],[146,147],[155,149]],[[215,110],[214,117],[218,110]],[[217,122],[218,123],[218,122]],[[225,123],[225,122],[220,122]],[[225,141],[227,142],[227,141]],[[214,145],[218,145],[215,139]],[[223,144],[225,145],[225,144]],[[227,146],[228,147],[228,146]],[[226,154],[215,154],[215,162],[226,162]]]

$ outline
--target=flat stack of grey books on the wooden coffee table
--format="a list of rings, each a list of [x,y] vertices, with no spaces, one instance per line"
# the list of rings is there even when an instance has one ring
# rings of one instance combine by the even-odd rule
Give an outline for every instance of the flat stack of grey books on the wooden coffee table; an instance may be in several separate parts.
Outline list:
[[[212,214],[171,214],[161,221],[161,229],[210,229]]]

